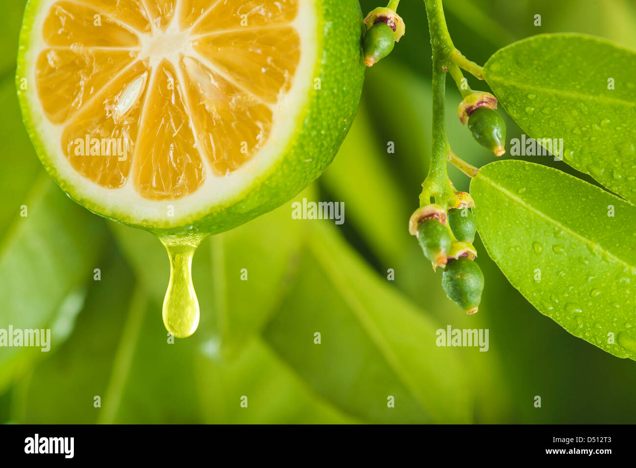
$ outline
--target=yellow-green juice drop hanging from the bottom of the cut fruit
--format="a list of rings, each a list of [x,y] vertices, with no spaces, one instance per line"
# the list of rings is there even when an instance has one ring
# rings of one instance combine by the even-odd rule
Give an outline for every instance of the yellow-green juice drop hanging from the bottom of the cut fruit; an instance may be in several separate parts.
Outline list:
[[[177,338],[195,333],[199,305],[192,284],[192,258],[205,236],[160,237],[170,259],[170,283],[163,299],[163,324]]]

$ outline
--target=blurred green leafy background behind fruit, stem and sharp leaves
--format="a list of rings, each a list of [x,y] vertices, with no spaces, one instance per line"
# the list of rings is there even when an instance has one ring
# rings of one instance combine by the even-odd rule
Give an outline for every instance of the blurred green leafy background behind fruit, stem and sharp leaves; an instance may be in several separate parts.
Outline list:
[[[160,242],[71,202],[34,154],[14,85],[25,1],[2,3],[0,328],[51,328],[53,340],[48,353],[0,348],[1,422],[636,420],[636,363],[534,310],[479,242],[486,287],[480,312],[467,317],[445,298],[441,272],[432,272],[408,235],[431,147],[431,49],[421,1],[402,2],[406,36],[368,71],[340,154],[300,195],[345,202],[345,223],[293,220],[286,203],[205,241],[193,265],[201,324],[174,344],[161,319],[169,265]],[[378,4],[361,6],[366,13]],[[636,48],[629,0],[446,0],[445,8],[455,45],[481,64],[541,32],[586,32]],[[449,116],[459,100],[449,86]],[[508,138],[518,137],[507,123]],[[462,158],[492,160],[457,119],[448,118],[448,127]],[[450,174],[467,189],[466,176]],[[20,217],[21,205],[28,217]],[[488,352],[436,347],[436,329],[449,324],[489,329]]]

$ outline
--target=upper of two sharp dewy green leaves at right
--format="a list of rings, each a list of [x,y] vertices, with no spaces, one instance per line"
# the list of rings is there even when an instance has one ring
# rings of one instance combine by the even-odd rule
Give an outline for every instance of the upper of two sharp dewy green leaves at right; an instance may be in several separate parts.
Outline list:
[[[591,36],[543,34],[495,52],[484,76],[530,137],[562,139],[567,164],[636,201],[636,53]],[[520,146],[511,143],[510,154],[523,154]]]

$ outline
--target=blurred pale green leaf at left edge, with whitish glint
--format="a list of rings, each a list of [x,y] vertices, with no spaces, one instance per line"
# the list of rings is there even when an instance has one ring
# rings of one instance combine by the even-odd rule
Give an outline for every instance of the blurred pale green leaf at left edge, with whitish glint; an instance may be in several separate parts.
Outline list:
[[[81,310],[85,285],[99,268],[104,221],[48,177],[22,126],[13,77],[0,82],[0,328],[52,329],[51,347],[64,341]],[[0,352],[0,389],[34,359],[34,347]]]

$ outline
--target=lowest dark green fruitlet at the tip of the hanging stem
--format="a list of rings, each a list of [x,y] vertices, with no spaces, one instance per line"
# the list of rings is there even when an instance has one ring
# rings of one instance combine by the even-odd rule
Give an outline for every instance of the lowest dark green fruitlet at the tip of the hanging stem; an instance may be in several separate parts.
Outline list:
[[[462,257],[446,265],[441,279],[446,296],[455,301],[466,313],[475,313],[483,291],[483,273],[473,260]]]

